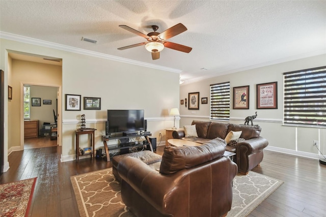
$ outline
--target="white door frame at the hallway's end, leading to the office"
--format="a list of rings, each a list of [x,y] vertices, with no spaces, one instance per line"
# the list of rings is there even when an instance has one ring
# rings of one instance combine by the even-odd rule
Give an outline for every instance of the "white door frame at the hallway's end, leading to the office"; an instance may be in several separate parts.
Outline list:
[[[20,82],[20,150],[24,150],[24,85],[35,85],[35,86],[45,86],[45,87],[57,87],[58,88],[58,106],[57,106],[57,116],[58,116],[58,139],[57,145],[62,146],[62,85],[52,85],[52,84],[39,84],[39,83],[25,83]]]

